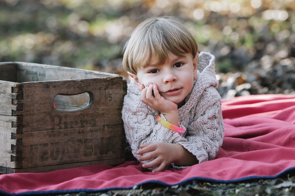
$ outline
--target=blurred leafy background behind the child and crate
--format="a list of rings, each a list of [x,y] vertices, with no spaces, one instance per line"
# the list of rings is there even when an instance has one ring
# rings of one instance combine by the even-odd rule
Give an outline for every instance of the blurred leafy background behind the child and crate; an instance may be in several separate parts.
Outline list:
[[[123,44],[151,16],[178,16],[216,56],[222,98],[295,91],[293,0],[0,0],[0,62],[120,74]]]

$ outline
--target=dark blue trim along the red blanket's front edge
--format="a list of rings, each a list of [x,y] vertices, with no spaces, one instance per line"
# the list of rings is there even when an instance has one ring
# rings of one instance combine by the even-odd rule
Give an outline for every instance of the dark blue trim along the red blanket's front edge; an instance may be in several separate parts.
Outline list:
[[[109,188],[103,188],[103,189],[70,189],[70,190],[48,190],[48,191],[28,191],[28,192],[22,192],[22,193],[8,193],[5,191],[0,190],[0,194],[3,195],[44,195],[44,194],[67,194],[67,193],[78,193],[78,192],[102,192],[102,191],[109,191],[109,190],[127,190],[127,189],[132,189],[135,186],[140,186],[143,184],[148,184],[148,183],[157,183],[160,185],[166,185],[166,186],[174,186],[174,185],[179,185],[191,180],[201,180],[201,181],[206,181],[206,182],[217,182],[217,183],[232,183],[232,182],[241,182],[241,181],[246,181],[246,180],[257,180],[257,179],[273,179],[276,178],[280,175],[283,175],[284,173],[287,173],[289,171],[295,170],[295,167],[290,167],[277,175],[274,176],[248,176],[248,177],[241,177],[237,179],[232,179],[232,180],[217,180],[213,178],[206,178],[206,177],[191,177],[186,180],[183,180],[181,182],[178,182],[176,184],[167,184],[165,182],[159,181],[159,180],[149,180],[145,182],[138,183],[134,186],[131,187],[109,187]]]

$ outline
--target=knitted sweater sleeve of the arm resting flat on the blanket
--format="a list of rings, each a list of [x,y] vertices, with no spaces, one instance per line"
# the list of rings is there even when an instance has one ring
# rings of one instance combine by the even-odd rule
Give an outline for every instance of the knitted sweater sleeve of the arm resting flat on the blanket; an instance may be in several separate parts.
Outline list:
[[[210,101],[206,101],[208,98]],[[187,141],[177,143],[202,163],[214,159],[218,153],[224,138],[224,123],[221,98],[213,87],[207,88],[199,100],[194,111],[195,116],[186,130]]]

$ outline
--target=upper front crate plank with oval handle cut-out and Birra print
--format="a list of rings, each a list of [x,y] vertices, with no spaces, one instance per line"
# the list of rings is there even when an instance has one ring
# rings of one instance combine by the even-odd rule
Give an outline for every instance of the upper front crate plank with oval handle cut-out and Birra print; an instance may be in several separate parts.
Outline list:
[[[121,83],[121,85],[118,85]],[[92,78],[23,83],[23,132],[122,124],[122,78]],[[55,95],[88,92],[91,104],[78,110],[57,110]]]

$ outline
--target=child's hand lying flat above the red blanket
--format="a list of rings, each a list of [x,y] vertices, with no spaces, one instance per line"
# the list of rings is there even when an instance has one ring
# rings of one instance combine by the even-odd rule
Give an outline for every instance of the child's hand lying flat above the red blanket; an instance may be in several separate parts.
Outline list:
[[[177,159],[176,151],[178,149],[176,145],[179,144],[157,142],[140,145],[137,154],[147,154],[140,156],[138,160],[145,161],[154,158],[151,162],[144,163],[142,167],[149,168],[158,165],[158,167],[153,169],[152,172],[160,172],[164,170],[167,165],[173,163]]]

